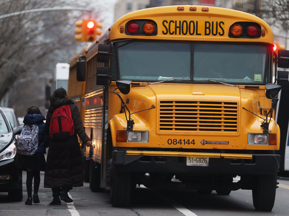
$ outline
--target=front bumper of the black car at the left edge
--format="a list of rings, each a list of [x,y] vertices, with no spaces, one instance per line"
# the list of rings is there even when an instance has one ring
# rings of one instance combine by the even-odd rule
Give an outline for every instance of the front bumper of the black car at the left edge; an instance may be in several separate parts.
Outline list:
[[[17,161],[10,159],[0,162],[0,176],[10,175],[9,180],[0,179],[0,192],[8,192],[9,190],[19,189],[22,186],[22,170],[17,169]]]

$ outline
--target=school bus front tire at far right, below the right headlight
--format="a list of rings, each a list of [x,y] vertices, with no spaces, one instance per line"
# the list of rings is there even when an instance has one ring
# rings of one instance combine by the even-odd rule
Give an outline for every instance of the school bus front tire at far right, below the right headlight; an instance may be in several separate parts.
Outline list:
[[[252,190],[253,205],[256,211],[272,211],[277,188],[277,175],[256,176]]]

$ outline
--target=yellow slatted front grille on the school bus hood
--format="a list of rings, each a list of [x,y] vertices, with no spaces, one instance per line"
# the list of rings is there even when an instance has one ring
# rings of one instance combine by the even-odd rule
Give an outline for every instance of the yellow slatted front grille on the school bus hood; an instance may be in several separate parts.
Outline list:
[[[160,101],[160,132],[238,133],[238,103]]]

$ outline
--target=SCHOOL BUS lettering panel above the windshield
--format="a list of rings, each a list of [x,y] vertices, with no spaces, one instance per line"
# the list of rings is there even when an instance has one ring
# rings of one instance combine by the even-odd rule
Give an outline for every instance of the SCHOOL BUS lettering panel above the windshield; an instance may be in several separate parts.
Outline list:
[[[163,35],[223,36],[223,21],[163,20]]]

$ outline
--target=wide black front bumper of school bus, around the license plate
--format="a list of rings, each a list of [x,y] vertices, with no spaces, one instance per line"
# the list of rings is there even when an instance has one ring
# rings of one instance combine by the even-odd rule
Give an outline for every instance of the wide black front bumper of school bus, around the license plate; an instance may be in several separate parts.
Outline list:
[[[275,175],[280,155],[253,155],[252,159],[209,158],[209,166],[187,166],[186,157],[126,155],[113,152],[113,164],[120,172],[210,173],[232,175]]]

